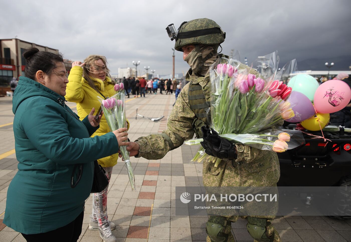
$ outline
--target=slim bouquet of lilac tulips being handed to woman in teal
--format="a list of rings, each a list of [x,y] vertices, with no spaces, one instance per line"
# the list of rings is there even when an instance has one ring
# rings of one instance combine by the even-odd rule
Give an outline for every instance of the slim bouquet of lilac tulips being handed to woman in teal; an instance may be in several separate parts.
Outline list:
[[[119,84],[116,84],[116,85],[119,85]],[[122,83],[121,85],[122,85],[122,90],[124,90]],[[113,95],[110,98],[107,98],[106,100],[102,99],[101,97],[98,97],[98,99],[101,103],[101,108],[104,111],[104,115],[106,117],[106,121],[110,130],[114,131],[120,128],[126,128],[127,119],[126,119],[126,112],[124,109],[125,100],[124,100],[124,93],[121,92],[121,89],[119,88],[119,91],[117,92],[117,94]],[[120,146],[119,150],[121,152],[122,158],[124,159],[124,162],[126,165],[132,190],[134,190],[135,189],[134,172],[130,161],[129,152],[127,151],[127,146],[125,145]]]

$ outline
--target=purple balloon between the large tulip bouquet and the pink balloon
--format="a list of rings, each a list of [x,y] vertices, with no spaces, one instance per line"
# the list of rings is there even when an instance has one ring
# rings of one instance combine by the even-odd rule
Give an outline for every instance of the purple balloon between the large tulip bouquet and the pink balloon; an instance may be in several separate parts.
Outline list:
[[[290,102],[292,111],[294,111],[295,116],[287,119],[287,122],[297,123],[301,122],[307,118],[310,118],[316,113],[310,99],[301,92],[292,91],[290,97],[287,99]]]

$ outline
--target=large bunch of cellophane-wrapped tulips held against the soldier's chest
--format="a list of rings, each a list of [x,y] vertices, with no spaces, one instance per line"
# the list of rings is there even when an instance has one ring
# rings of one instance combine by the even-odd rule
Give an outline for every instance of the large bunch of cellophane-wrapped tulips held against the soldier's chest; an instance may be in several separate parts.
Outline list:
[[[289,96],[292,89],[284,79],[296,69],[295,60],[277,73],[277,52],[257,61],[255,67],[269,66],[272,75],[265,80],[254,75],[252,68],[237,60],[221,58],[210,70],[212,128],[233,144],[245,144],[260,150],[284,152],[304,144],[301,131],[274,129],[283,120],[294,116]],[[200,144],[202,139],[185,141],[188,145]],[[208,161],[217,167],[221,159],[207,155],[203,148],[192,161]]]

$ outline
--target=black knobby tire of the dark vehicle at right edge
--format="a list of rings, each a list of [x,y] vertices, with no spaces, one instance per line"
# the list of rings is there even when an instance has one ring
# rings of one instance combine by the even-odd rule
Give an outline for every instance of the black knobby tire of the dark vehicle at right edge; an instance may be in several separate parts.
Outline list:
[[[351,175],[343,177],[339,182],[340,193],[335,197],[333,206],[338,216],[329,216],[333,219],[351,219]],[[343,189],[342,187],[345,187]]]

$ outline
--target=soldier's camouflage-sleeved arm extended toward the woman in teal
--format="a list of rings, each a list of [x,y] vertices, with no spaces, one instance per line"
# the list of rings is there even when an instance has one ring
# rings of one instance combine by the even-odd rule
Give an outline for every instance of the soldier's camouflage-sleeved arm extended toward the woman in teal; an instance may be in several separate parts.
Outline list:
[[[139,154],[148,160],[163,158],[168,151],[179,147],[184,140],[194,136],[194,112],[188,103],[188,85],[181,90],[172,113],[168,118],[167,129],[162,134],[150,134],[140,137],[135,142],[139,144]]]

